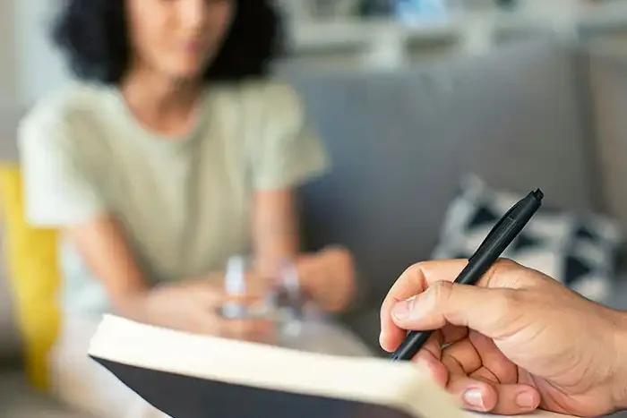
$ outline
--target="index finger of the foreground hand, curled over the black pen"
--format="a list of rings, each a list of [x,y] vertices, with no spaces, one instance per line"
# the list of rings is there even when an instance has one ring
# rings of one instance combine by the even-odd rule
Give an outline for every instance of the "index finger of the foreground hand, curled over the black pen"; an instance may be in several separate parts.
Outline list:
[[[388,352],[398,348],[407,334],[394,324],[391,309],[400,301],[425,292],[426,288],[440,281],[454,281],[468,260],[433,260],[414,264],[400,275],[391,286],[381,306],[381,336],[379,344]]]

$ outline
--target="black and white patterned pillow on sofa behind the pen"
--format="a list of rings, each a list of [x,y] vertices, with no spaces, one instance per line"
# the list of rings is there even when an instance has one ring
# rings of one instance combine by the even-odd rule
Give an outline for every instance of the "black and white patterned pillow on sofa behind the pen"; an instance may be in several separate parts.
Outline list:
[[[492,190],[469,175],[447,210],[434,259],[470,257],[502,214],[522,197]],[[610,292],[622,242],[622,232],[608,218],[542,207],[502,256],[602,302]]]

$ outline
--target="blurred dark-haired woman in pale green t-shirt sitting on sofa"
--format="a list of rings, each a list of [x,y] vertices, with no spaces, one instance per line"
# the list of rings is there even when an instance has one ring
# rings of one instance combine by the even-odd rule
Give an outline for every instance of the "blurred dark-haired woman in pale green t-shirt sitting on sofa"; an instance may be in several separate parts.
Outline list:
[[[252,326],[216,313],[234,254],[253,254],[246,298],[293,259],[316,303],[348,308],[348,252],[298,252],[294,190],[326,156],[296,93],[268,79],[279,35],[264,0],[64,4],[54,38],[77,81],[39,102],[19,143],[27,217],[63,232],[50,362],[65,402],[159,416],[90,363],[90,336],[109,311],[199,333]]]

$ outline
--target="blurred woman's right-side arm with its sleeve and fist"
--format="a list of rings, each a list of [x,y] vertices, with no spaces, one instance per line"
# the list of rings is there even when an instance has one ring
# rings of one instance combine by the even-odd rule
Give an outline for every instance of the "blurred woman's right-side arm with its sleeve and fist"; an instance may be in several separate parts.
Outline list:
[[[295,90],[268,84],[263,95],[263,110],[271,109],[271,113],[250,151],[256,191],[252,234],[257,267],[263,276],[275,277],[282,260],[296,260],[305,293],[326,311],[345,311],[356,287],[349,252],[331,248],[302,254],[298,248],[296,187],[327,171],[326,149],[316,130],[307,124]]]

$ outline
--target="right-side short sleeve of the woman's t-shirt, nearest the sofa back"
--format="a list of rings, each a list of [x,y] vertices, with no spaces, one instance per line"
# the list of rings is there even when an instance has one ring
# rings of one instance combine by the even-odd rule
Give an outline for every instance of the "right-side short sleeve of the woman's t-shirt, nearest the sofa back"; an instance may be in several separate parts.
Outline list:
[[[317,130],[308,124],[303,104],[285,84],[271,84],[263,95],[262,138],[253,155],[257,190],[296,187],[329,167]]]

